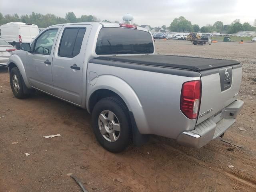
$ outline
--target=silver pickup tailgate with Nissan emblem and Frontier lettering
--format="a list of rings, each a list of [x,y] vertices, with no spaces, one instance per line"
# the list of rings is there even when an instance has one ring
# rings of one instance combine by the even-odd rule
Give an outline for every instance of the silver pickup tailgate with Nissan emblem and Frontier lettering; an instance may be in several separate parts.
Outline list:
[[[222,109],[236,100],[241,80],[242,66],[236,64],[213,70],[201,71],[202,96],[196,124],[212,117],[221,120]]]

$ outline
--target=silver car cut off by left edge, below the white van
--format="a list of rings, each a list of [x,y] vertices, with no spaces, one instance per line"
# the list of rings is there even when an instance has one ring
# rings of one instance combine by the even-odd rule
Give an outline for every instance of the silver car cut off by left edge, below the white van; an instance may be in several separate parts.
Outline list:
[[[10,45],[5,40],[0,39],[0,66],[6,66],[8,59],[11,56],[11,52],[15,51],[12,45]]]

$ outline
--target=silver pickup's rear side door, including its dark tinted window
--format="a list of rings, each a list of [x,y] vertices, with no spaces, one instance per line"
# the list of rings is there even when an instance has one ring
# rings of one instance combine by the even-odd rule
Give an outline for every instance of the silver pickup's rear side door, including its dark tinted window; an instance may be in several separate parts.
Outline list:
[[[78,105],[82,103],[84,56],[91,28],[91,25],[63,26],[52,60],[55,95]]]

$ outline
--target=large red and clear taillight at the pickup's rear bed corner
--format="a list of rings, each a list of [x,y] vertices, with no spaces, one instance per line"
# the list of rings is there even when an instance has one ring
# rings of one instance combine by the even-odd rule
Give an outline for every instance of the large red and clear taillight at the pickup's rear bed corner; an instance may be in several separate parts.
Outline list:
[[[201,81],[188,81],[182,85],[180,110],[190,119],[198,117],[201,98]]]

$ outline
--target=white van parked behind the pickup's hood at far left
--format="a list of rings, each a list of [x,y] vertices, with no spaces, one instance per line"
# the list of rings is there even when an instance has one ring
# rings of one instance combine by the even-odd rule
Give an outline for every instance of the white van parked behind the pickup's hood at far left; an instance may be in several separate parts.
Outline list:
[[[21,43],[30,43],[38,35],[38,26],[34,24],[10,22],[0,26],[0,38],[20,49]]]

